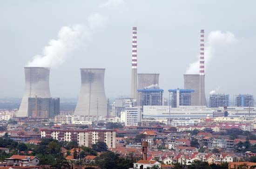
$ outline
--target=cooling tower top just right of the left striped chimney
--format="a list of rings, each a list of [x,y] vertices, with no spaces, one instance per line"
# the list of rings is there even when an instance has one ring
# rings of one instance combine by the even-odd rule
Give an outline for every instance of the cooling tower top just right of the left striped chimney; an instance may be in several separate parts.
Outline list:
[[[159,89],[159,74],[138,74],[138,89],[155,88]]]

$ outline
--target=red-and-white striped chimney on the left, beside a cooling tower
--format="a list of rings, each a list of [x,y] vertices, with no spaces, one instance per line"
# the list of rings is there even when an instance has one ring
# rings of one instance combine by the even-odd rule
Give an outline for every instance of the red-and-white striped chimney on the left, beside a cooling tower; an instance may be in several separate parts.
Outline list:
[[[137,99],[137,27],[133,27],[133,43],[132,43],[132,88],[131,97]]]

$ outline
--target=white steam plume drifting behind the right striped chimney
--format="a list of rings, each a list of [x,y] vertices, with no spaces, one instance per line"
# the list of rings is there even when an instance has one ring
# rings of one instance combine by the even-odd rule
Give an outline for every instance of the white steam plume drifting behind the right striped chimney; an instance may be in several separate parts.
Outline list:
[[[232,32],[221,32],[219,30],[210,32],[204,49],[205,66],[207,67],[210,60],[214,57],[214,51],[218,45],[229,45],[236,41],[237,39]],[[196,62],[189,64],[186,74],[199,74],[199,57],[198,55]]]

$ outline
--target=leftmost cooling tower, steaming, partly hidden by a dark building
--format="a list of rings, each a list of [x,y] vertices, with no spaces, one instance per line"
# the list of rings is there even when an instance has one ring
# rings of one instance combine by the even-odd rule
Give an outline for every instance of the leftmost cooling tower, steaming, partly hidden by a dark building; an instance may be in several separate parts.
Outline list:
[[[17,117],[27,117],[28,97],[51,97],[49,88],[50,69],[47,67],[24,67],[25,92],[21,100]]]

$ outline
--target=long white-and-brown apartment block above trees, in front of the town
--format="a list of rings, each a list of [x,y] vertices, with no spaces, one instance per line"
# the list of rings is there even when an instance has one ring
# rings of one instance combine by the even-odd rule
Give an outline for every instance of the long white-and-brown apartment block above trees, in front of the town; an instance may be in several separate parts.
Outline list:
[[[87,147],[101,141],[106,143],[108,148],[115,148],[115,130],[42,129],[41,137],[67,142],[75,141]]]

